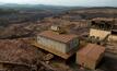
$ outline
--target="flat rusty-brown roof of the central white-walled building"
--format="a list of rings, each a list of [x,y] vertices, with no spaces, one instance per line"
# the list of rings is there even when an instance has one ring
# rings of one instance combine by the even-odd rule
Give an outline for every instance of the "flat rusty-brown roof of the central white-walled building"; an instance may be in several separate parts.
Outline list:
[[[47,37],[61,43],[68,43],[71,39],[78,37],[74,34],[57,34],[56,32],[52,32],[52,31],[45,31],[43,33],[39,33],[39,36]]]

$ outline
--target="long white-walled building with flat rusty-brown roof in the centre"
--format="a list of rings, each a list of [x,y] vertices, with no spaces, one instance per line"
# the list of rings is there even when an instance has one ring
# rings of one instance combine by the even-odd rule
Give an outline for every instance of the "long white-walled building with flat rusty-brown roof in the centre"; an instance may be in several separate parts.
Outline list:
[[[54,31],[45,31],[37,35],[37,44],[42,49],[68,59],[75,54],[79,47],[79,39],[73,34],[59,34]]]

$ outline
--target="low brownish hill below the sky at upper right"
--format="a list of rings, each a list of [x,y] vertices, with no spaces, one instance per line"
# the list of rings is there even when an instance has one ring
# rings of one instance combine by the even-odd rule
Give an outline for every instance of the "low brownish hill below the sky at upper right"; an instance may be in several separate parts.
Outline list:
[[[71,15],[81,15],[83,19],[93,17],[117,17],[117,8],[102,7],[102,8],[83,8],[83,9],[71,9],[68,11]]]

